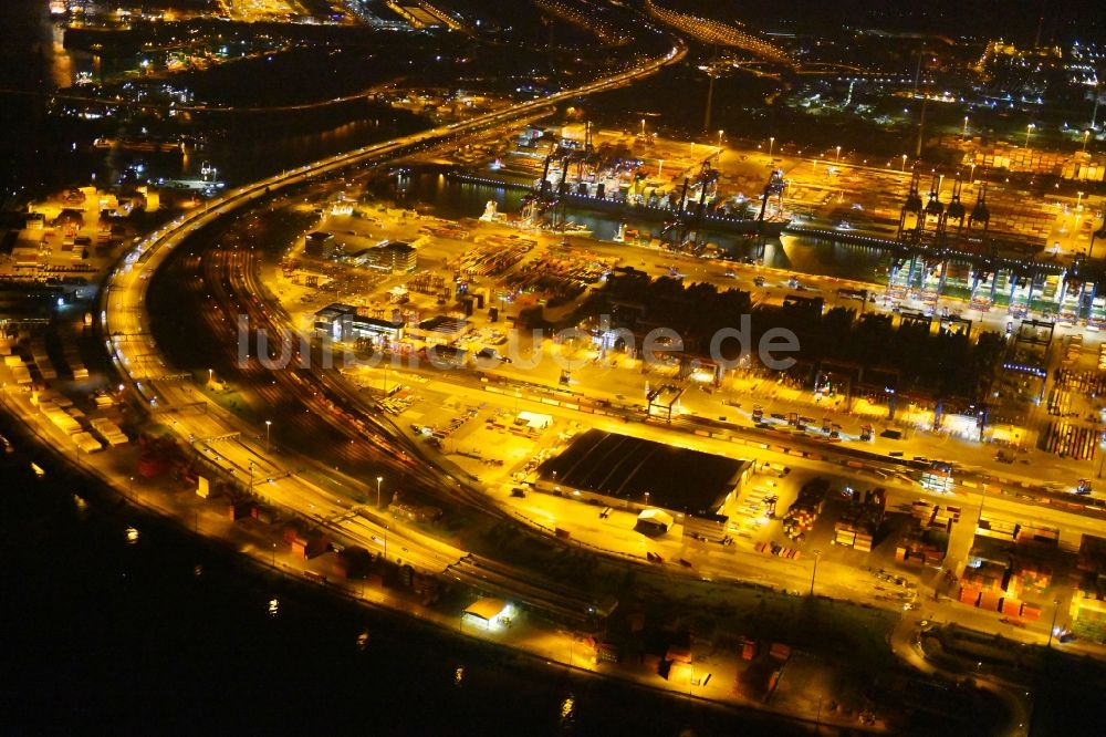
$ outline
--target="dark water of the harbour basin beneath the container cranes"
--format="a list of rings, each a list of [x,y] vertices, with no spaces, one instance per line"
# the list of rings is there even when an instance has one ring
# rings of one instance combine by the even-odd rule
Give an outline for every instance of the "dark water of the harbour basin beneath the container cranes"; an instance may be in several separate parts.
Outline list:
[[[407,193],[409,201],[426,204],[438,215],[448,218],[480,217],[489,200],[498,205],[500,212],[518,212],[525,195],[519,189],[455,181],[437,174],[400,177],[397,185]],[[618,219],[613,214],[577,208],[568,208],[567,217],[573,222],[587,226],[596,238],[603,240],[613,239],[620,222],[638,230],[643,236],[653,233],[657,238],[660,238],[662,228],[656,220],[633,217]],[[758,255],[757,245],[750,238],[708,230],[705,240],[718,245],[734,258]],[[764,246],[764,266],[839,279],[872,281],[877,272],[886,271],[889,262],[887,252],[881,249],[834,243],[821,238],[785,235],[779,241],[769,241]]]

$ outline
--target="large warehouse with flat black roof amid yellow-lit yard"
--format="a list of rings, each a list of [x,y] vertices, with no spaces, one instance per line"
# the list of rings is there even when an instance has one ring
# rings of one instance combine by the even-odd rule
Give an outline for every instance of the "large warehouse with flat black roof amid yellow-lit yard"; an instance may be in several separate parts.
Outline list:
[[[717,515],[732,501],[752,464],[592,429],[538,468],[535,487],[620,507]]]

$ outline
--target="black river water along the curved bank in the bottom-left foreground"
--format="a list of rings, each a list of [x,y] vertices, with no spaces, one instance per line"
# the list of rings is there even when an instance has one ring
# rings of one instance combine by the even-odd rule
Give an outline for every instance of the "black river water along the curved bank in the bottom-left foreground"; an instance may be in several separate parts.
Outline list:
[[[262,573],[0,432],[6,734],[793,734]]]

